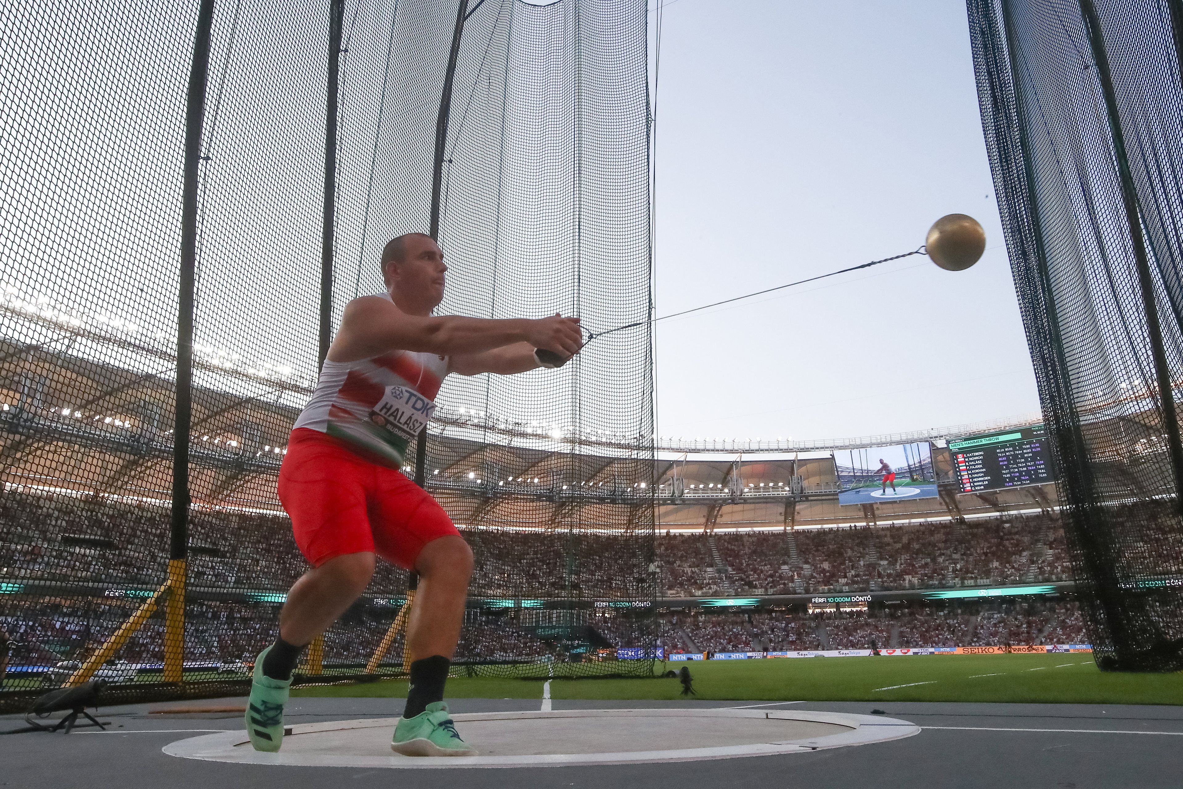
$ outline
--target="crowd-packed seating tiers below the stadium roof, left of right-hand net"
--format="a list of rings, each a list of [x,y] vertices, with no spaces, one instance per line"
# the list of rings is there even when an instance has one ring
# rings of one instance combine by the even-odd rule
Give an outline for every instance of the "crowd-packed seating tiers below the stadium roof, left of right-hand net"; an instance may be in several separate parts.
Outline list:
[[[12,665],[54,665],[77,660],[102,644],[141,604],[136,596],[111,597],[118,589],[159,586],[167,568],[168,510],[159,503],[46,493],[12,487],[0,496],[0,583],[85,582],[90,596],[50,595],[35,606],[0,595],[0,627],[12,638]],[[564,562],[564,533],[538,532],[523,550],[510,532],[465,530],[477,555],[474,595],[562,596],[582,584],[588,596],[627,591],[639,582],[621,568],[636,565],[636,547],[620,537],[581,535],[588,541],[577,568]],[[655,564],[670,597],[716,594],[814,594],[1066,580],[1064,535],[1042,516],[970,522],[797,530],[796,561],[784,532],[659,535]],[[717,567],[711,539],[718,549]],[[296,550],[286,518],[266,512],[199,511],[190,528],[189,586],[207,593],[234,589],[283,591],[306,564]],[[629,558],[632,557],[632,558]],[[407,574],[386,564],[371,593],[400,596]],[[276,600],[260,603],[190,597],[187,660],[250,659],[273,636]],[[216,594],[213,594],[216,597]],[[327,635],[325,654],[338,662],[364,662],[388,629],[396,606],[356,607]],[[35,614],[33,613],[35,612]],[[662,625],[671,651],[809,651],[820,648],[1003,646],[1078,644],[1086,640],[1075,603],[909,604],[874,607],[853,615],[790,612],[683,615]],[[603,642],[635,644],[628,620],[597,616]],[[162,660],[162,614],[157,612],[121,649],[130,664]],[[388,661],[401,660],[401,639]],[[554,647],[498,617],[470,612],[457,659],[537,660]]]

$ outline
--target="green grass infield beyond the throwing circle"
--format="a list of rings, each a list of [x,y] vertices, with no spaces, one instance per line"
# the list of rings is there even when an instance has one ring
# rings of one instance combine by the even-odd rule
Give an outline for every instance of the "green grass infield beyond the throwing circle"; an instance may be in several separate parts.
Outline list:
[[[1101,672],[1088,653],[769,658],[690,666],[698,699],[1183,704],[1183,675]],[[292,696],[402,697],[407,683],[302,686]],[[451,698],[541,699],[542,680],[454,678]],[[678,700],[677,679],[556,679],[555,699]]]

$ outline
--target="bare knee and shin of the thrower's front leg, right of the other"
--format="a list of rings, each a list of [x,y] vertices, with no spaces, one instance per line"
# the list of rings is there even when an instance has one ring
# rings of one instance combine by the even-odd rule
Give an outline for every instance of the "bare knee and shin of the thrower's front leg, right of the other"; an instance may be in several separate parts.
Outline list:
[[[464,622],[464,602],[472,576],[472,549],[463,537],[439,537],[424,545],[415,560],[419,589],[407,622],[412,660],[455,653]]]

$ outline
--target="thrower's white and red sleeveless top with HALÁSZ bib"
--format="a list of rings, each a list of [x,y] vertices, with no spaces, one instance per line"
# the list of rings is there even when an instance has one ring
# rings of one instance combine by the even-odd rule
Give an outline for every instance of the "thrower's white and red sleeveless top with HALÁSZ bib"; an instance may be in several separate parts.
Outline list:
[[[324,360],[316,390],[295,427],[321,431],[367,460],[400,468],[407,445],[435,410],[447,368],[447,356],[408,350],[356,362]]]

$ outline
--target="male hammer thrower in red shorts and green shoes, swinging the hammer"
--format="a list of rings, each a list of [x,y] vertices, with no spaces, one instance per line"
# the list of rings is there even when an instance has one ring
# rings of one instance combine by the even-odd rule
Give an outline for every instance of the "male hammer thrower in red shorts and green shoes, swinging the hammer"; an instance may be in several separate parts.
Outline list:
[[[563,363],[582,347],[578,318],[433,316],[447,266],[429,235],[392,240],[381,265],[388,290],[345,306],[279,471],[279,500],[312,569],[287,593],[276,641],[254,661],[246,730],[256,750],[279,750],[300,652],[364,591],[381,557],[419,574],[405,642],[411,687],[390,748],[407,756],[476,755],[444,703],[472,550],[444,507],[400,468],[446,375],[555,367],[536,349]]]

